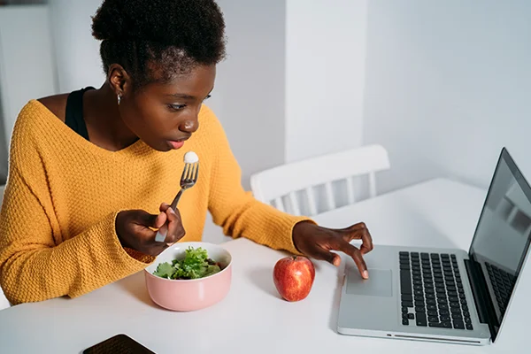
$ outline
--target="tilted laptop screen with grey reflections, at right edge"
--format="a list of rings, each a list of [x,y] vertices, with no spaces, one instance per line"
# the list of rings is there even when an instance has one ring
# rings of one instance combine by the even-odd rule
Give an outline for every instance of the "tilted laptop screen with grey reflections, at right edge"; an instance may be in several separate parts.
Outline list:
[[[530,240],[531,188],[504,149],[470,248],[470,257],[481,266],[500,325]]]

